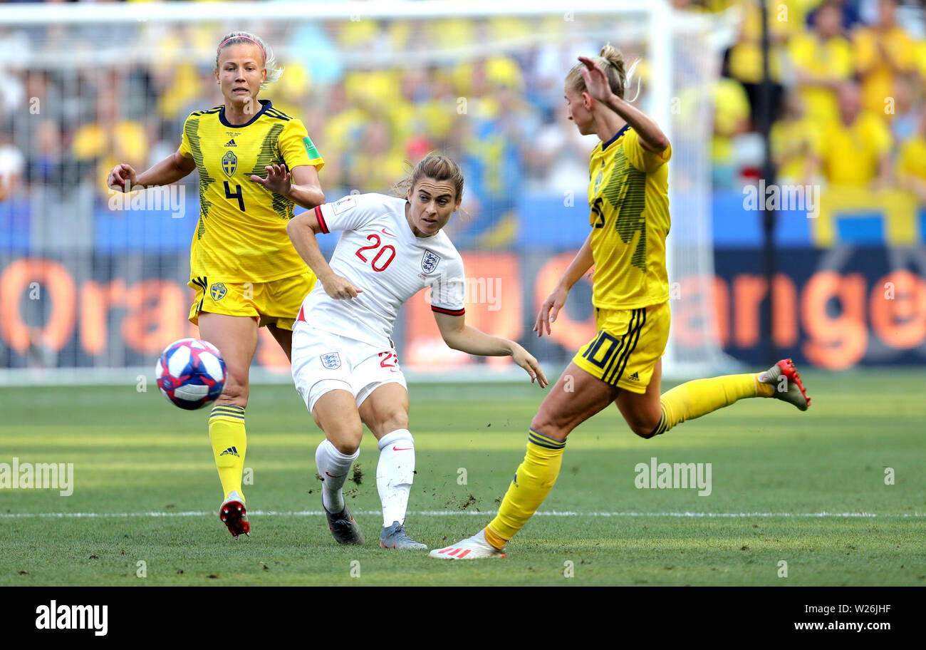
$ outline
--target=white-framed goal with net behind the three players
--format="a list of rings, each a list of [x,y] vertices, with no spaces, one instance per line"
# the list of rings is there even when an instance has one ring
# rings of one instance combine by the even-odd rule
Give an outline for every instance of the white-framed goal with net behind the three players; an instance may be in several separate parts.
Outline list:
[[[229,18],[234,17],[234,18]],[[221,104],[223,34],[259,34],[285,70],[260,98],[301,119],[326,161],[328,200],[390,192],[431,150],[466,174],[447,227],[467,271],[467,321],[519,341],[550,369],[594,335],[591,283],[554,326],[537,310],[588,234],[588,156],[566,119],[576,56],[640,60],[628,91],[669,135],[673,323],[664,374],[722,359],[709,205],[711,23],[662,0],[585,2],[156,3],[0,6],[0,382],[149,380],[171,341],[197,336],[190,242],[194,172],[131,196],[105,187],[119,162],[147,169],[180,144],[193,110]],[[297,209],[297,212],[299,210]],[[333,250],[337,235],[319,237]],[[396,323],[410,379],[518,377],[440,339],[427,296]],[[289,381],[261,329],[253,381]]]

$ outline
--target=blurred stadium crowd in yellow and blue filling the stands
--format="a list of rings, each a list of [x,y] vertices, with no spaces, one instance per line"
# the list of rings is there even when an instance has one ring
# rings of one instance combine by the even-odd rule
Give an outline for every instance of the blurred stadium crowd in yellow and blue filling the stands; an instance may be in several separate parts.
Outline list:
[[[739,17],[717,61],[711,146],[714,187],[735,190],[761,160],[758,2],[672,4]],[[895,0],[770,3],[771,145],[780,181],[903,187],[926,204],[923,13],[922,2]],[[0,27],[9,53],[0,63],[0,201],[35,186],[67,195],[79,184],[103,200],[115,163],[144,169],[169,155],[186,116],[219,103],[209,53],[228,26]],[[386,191],[404,161],[443,150],[466,172],[466,231],[478,238],[469,244],[493,247],[510,241],[519,193],[587,182],[596,139],[566,119],[562,79],[577,53],[600,44],[522,45],[562,31],[562,17],[247,27],[281,55],[282,80],[261,97],[306,123],[326,160],[326,191]],[[121,60],[128,50],[120,48],[132,45],[148,55],[128,65],[81,64],[98,62],[100,50]],[[458,58],[425,56],[438,49]],[[643,50],[623,49],[629,61],[645,59]],[[639,72],[645,93],[645,60]],[[469,119],[457,119],[464,114]]]

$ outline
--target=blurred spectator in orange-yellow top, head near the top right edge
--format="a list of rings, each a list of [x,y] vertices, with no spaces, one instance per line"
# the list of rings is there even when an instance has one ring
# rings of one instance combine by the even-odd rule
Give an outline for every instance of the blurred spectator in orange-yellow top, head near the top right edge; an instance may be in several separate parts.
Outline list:
[[[888,120],[895,115],[895,81],[915,70],[916,54],[913,39],[896,23],[895,6],[895,0],[880,0],[878,22],[854,37],[862,106]]]

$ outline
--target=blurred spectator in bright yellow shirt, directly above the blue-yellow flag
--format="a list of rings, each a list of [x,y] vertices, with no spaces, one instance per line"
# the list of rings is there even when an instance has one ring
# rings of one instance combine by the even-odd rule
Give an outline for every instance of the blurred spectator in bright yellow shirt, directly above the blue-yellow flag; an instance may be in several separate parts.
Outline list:
[[[820,131],[817,160],[832,185],[884,188],[891,175],[891,133],[877,115],[863,111],[855,83],[839,91],[839,119]]]

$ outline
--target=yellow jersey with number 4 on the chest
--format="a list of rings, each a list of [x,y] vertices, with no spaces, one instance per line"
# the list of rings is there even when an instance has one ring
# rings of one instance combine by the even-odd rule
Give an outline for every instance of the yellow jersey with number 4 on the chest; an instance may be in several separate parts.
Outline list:
[[[199,223],[190,247],[190,275],[229,282],[269,282],[299,275],[286,223],[293,202],[251,181],[265,166],[324,166],[306,127],[269,100],[245,124],[232,126],[225,107],[195,111],[183,125],[180,152],[199,171]]]

